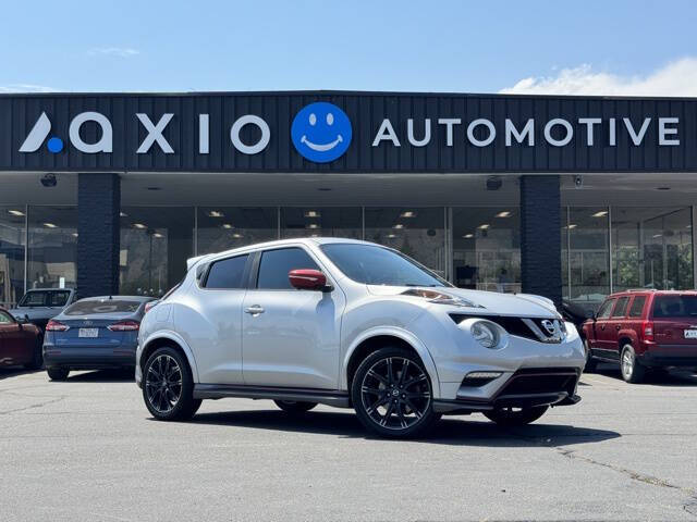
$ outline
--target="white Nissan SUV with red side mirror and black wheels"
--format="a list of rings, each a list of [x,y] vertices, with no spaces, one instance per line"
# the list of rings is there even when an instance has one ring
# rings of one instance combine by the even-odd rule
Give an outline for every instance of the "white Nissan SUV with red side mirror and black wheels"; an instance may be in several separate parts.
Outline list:
[[[383,436],[441,414],[502,424],[574,405],[585,363],[548,299],[453,287],[406,256],[339,238],[288,239],[189,260],[144,318],[136,382],[156,419],[201,399],[354,408]]]

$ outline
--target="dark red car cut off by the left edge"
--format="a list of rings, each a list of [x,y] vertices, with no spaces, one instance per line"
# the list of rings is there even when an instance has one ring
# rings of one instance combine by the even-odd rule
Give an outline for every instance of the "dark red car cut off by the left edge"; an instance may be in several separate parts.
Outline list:
[[[41,368],[41,331],[30,323],[17,322],[0,308],[0,366],[23,364],[29,370]]]

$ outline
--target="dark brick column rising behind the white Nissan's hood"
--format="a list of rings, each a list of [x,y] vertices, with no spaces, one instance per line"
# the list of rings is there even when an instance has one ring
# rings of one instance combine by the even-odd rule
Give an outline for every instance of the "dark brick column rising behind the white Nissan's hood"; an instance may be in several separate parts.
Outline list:
[[[562,301],[559,176],[521,176],[521,277],[523,291]]]

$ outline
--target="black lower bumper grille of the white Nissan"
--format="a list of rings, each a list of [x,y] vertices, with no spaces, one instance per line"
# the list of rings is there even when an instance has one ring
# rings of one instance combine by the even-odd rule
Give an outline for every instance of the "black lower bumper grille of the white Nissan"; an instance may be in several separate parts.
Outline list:
[[[498,397],[512,395],[574,395],[578,371],[574,368],[536,368],[518,370],[501,388]]]

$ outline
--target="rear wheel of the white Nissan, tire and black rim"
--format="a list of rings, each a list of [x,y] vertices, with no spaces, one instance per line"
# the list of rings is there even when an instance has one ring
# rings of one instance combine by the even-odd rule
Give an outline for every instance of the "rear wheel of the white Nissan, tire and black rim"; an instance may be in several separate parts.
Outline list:
[[[170,347],[158,348],[143,369],[143,399],[159,421],[185,421],[196,414],[194,381],[186,359]]]

